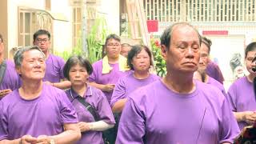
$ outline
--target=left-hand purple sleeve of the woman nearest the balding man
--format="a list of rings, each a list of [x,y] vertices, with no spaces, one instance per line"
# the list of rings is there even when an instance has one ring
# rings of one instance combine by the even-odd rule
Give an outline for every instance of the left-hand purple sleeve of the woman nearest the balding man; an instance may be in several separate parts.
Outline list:
[[[114,86],[114,91],[111,97],[110,106],[113,107],[115,102],[122,98],[126,98],[126,82],[125,77],[120,78],[116,86]]]

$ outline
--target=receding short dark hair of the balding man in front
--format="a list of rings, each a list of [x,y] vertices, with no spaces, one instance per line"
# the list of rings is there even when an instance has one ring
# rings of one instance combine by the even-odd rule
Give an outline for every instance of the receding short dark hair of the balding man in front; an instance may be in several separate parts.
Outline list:
[[[201,38],[201,35],[199,34],[198,30],[196,30],[194,28],[194,26],[190,25],[187,22],[177,22],[177,23],[174,23],[173,25],[167,27],[166,30],[163,31],[163,33],[160,37],[161,45],[164,45],[164,46],[166,46],[167,49],[169,49],[173,31],[175,30],[175,28],[177,28],[177,26],[190,26],[191,28],[193,28],[198,34],[199,44],[201,45],[202,38]]]

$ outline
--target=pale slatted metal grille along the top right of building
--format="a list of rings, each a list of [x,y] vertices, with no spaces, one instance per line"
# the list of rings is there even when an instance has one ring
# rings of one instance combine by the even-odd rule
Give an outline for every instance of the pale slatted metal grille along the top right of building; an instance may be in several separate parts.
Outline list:
[[[254,22],[256,0],[143,0],[146,19],[159,22]]]

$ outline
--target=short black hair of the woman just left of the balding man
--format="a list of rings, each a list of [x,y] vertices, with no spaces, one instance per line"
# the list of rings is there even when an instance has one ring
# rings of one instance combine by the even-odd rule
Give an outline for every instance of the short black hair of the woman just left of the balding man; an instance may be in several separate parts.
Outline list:
[[[150,56],[150,66],[153,66],[153,61],[152,61],[152,54],[150,52],[150,49],[147,46],[144,45],[135,45],[132,46],[131,50],[129,51],[127,55],[127,64],[130,67],[131,70],[134,70],[134,66],[131,64],[133,58],[139,54],[142,50],[145,50],[147,54]]]

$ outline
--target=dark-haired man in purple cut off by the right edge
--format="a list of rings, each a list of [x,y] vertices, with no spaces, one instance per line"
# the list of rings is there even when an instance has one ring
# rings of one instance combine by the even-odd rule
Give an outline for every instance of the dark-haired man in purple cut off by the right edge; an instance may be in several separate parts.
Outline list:
[[[256,73],[253,67],[255,63],[252,62],[256,56],[256,42],[251,42],[246,46],[246,69],[249,75],[238,78],[227,92],[230,101],[231,110],[234,111],[234,116],[237,118],[240,129],[244,126],[251,126],[256,122],[256,101],[254,94],[254,78]]]

